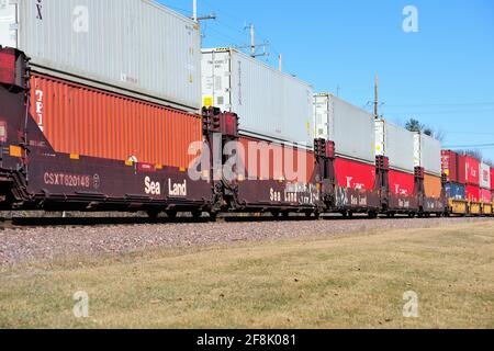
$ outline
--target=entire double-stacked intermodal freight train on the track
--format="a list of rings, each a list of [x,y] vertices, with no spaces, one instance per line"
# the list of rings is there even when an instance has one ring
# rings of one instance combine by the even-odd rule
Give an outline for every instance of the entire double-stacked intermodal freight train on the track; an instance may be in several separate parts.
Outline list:
[[[0,8],[0,210],[493,215],[489,166],[114,2]]]

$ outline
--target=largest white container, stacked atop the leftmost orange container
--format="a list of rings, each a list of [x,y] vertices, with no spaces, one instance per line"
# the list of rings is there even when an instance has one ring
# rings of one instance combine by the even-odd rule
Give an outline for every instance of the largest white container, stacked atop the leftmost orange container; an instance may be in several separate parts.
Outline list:
[[[150,0],[2,4],[0,44],[23,50],[33,69],[201,107],[200,31],[192,20]]]

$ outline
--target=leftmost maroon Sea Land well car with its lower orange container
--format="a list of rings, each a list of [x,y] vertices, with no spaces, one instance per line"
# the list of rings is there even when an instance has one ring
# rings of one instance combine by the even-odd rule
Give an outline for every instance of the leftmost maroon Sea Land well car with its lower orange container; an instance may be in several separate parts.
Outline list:
[[[187,169],[200,115],[30,75],[14,49],[0,63],[2,208],[210,211],[210,183]]]

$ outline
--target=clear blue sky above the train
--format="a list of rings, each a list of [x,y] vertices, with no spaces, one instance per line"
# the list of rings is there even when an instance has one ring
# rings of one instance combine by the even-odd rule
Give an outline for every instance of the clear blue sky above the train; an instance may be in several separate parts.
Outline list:
[[[494,144],[494,1],[492,0],[198,0],[203,46],[269,41],[267,59],[366,106],[380,77],[384,117],[411,116],[445,133],[446,146]],[[160,0],[191,15],[192,0]],[[418,10],[418,33],[403,31],[403,9]],[[370,109],[370,107],[369,107]],[[494,146],[481,148],[494,160]]]

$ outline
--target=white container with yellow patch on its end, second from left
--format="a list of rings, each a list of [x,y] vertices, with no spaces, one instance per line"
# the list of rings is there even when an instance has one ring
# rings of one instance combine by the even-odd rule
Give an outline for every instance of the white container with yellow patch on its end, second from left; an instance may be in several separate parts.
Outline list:
[[[236,49],[202,52],[205,106],[238,114],[240,134],[313,148],[312,87]]]

